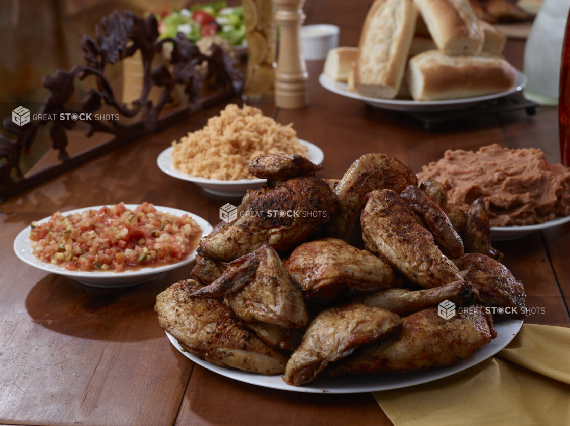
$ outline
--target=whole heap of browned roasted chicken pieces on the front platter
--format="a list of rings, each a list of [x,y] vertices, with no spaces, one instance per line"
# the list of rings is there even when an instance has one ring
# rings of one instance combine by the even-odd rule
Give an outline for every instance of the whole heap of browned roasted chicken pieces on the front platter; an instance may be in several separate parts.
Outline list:
[[[284,372],[298,386],[324,369],[451,365],[496,335],[478,303],[524,312],[522,284],[506,267],[463,254],[457,229],[466,251],[497,257],[477,203],[469,219],[455,217],[443,185],[418,188],[410,169],[384,154],[364,155],[340,181],[317,179],[318,169],[290,154],[250,163],[268,183],[201,242],[192,276],[208,285],[185,280],[157,296],[160,325],[185,350],[223,367]],[[366,250],[343,241],[359,226]],[[343,239],[315,239],[323,233]],[[291,249],[282,262],[278,253]],[[425,289],[397,288],[402,276]],[[462,311],[442,319],[435,305],[443,300]]]

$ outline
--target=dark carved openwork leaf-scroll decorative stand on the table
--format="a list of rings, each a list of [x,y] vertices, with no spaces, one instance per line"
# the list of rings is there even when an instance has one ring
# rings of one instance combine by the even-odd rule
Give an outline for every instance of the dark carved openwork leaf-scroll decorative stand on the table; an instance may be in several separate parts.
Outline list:
[[[58,69],[54,75],[45,76],[42,85],[50,90],[46,102],[36,111],[38,119],[26,125],[16,125],[11,117],[3,120],[4,129],[14,134],[9,139],[0,134],[0,199],[14,195],[32,185],[38,184],[67,169],[76,167],[89,159],[104,154],[111,149],[122,146],[156,130],[160,130],[176,119],[186,117],[193,112],[215,104],[224,98],[234,96],[242,90],[243,78],[233,67],[233,60],[221,48],[214,45],[211,55],[203,55],[199,49],[178,33],[176,38],[157,41],[158,29],[154,15],[139,18],[129,11],[113,12],[101,20],[95,27],[96,41],[87,34],[83,35],[81,47],[85,64],[76,65],[69,71]],[[152,67],[155,55],[162,55],[162,44],[172,43],[170,64],[172,72],[164,63]],[[117,101],[111,84],[104,75],[107,64],[132,56],[140,51],[143,58],[143,88],[140,97],[132,101],[132,106]],[[196,65],[206,63],[206,72],[202,74]],[[74,93],[75,78],[84,80],[92,76],[96,80],[97,89],[90,89],[78,106],[67,105]],[[158,117],[177,84],[184,85],[189,105],[164,117]],[[149,100],[150,89],[161,88],[156,103]],[[204,92],[207,89],[207,95]],[[139,121],[121,125],[118,121],[83,121],[73,119],[95,114],[102,103],[111,106],[121,117],[135,117],[142,113]],[[77,105],[77,104],[75,104]],[[68,119],[60,120],[60,114],[69,114]],[[80,115],[82,114],[83,115]],[[74,115],[77,114],[77,115]],[[40,119],[41,117],[41,119]],[[43,119],[56,118],[56,119]],[[100,144],[81,154],[70,156],[66,151],[67,130],[76,123],[88,125],[87,137],[96,132],[114,135],[109,142]],[[22,153],[29,151],[34,143],[40,126],[50,126],[52,148],[58,150],[59,164],[47,167],[32,176],[23,176],[19,163]]]

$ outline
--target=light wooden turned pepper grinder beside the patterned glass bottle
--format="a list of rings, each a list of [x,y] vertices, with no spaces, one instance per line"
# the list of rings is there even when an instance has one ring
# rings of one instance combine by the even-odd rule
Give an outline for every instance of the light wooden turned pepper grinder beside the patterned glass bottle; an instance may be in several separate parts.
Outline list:
[[[275,105],[283,109],[307,106],[307,65],[301,51],[304,0],[274,0],[279,25],[279,57],[275,69]]]

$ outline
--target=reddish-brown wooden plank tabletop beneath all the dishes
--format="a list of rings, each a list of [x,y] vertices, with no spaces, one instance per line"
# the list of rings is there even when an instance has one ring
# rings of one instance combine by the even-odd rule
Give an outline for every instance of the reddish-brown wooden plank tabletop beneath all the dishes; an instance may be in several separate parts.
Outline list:
[[[323,3],[323,4],[321,4]],[[308,3],[307,22],[341,26],[341,44],[355,45],[365,8],[352,2]],[[345,22],[351,16],[350,24]],[[508,60],[522,68],[523,42],[511,40]],[[385,152],[414,171],[448,149],[540,147],[559,162],[557,111],[543,107],[492,114],[427,133],[406,115],[373,109],[329,93],[317,82],[322,61],[308,63],[310,106],[264,113],[294,123],[300,138],[325,154],[323,177],[340,177],[358,156]],[[239,102],[238,100],[234,100]],[[58,425],[390,424],[371,394],[320,395],[235,382],[194,365],[159,328],[154,297],[188,276],[192,265],[123,289],[86,287],[27,266],[15,256],[16,235],[56,210],[119,201],[188,210],[216,223],[227,201],[156,166],[157,155],[200,129],[224,105],[201,111],[13,196],[0,205],[0,423]],[[522,282],[527,305],[544,313],[526,322],[570,326],[570,224],[496,243]]]

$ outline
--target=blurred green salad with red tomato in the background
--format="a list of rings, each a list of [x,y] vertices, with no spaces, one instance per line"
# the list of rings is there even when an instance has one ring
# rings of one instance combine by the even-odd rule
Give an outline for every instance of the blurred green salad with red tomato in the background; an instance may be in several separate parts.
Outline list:
[[[156,18],[159,39],[176,37],[178,32],[182,32],[194,42],[210,35],[219,35],[234,46],[245,41],[246,26],[243,23],[242,6],[227,7],[225,1],[173,10],[162,18]]]

